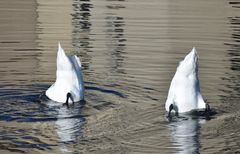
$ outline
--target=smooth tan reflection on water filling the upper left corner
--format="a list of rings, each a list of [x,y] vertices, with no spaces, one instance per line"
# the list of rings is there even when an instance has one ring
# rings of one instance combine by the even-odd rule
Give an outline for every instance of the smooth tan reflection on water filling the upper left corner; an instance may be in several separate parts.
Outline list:
[[[32,0],[0,2],[2,84],[19,85],[34,82],[35,69],[39,64],[35,32],[36,7],[36,2]]]

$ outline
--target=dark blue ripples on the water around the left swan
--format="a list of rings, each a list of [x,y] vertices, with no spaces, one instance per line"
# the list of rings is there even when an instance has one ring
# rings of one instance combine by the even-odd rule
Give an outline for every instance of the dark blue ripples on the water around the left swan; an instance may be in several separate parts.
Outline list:
[[[5,85],[4,87],[0,88],[0,121],[50,122],[57,120],[67,121],[76,118],[80,118],[81,122],[85,121],[84,115],[81,113],[85,103],[75,103],[74,107],[67,109],[65,106],[59,105],[59,103],[48,100],[45,103],[41,102],[39,96],[49,85],[35,84],[19,88],[8,88],[8,85]],[[85,83],[85,89],[86,91],[96,91],[100,92],[100,94],[125,98],[125,95],[119,91],[97,87],[95,83],[91,82]],[[97,95],[95,97],[98,99],[97,101],[104,101],[101,100],[102,98],[98,98]]]

